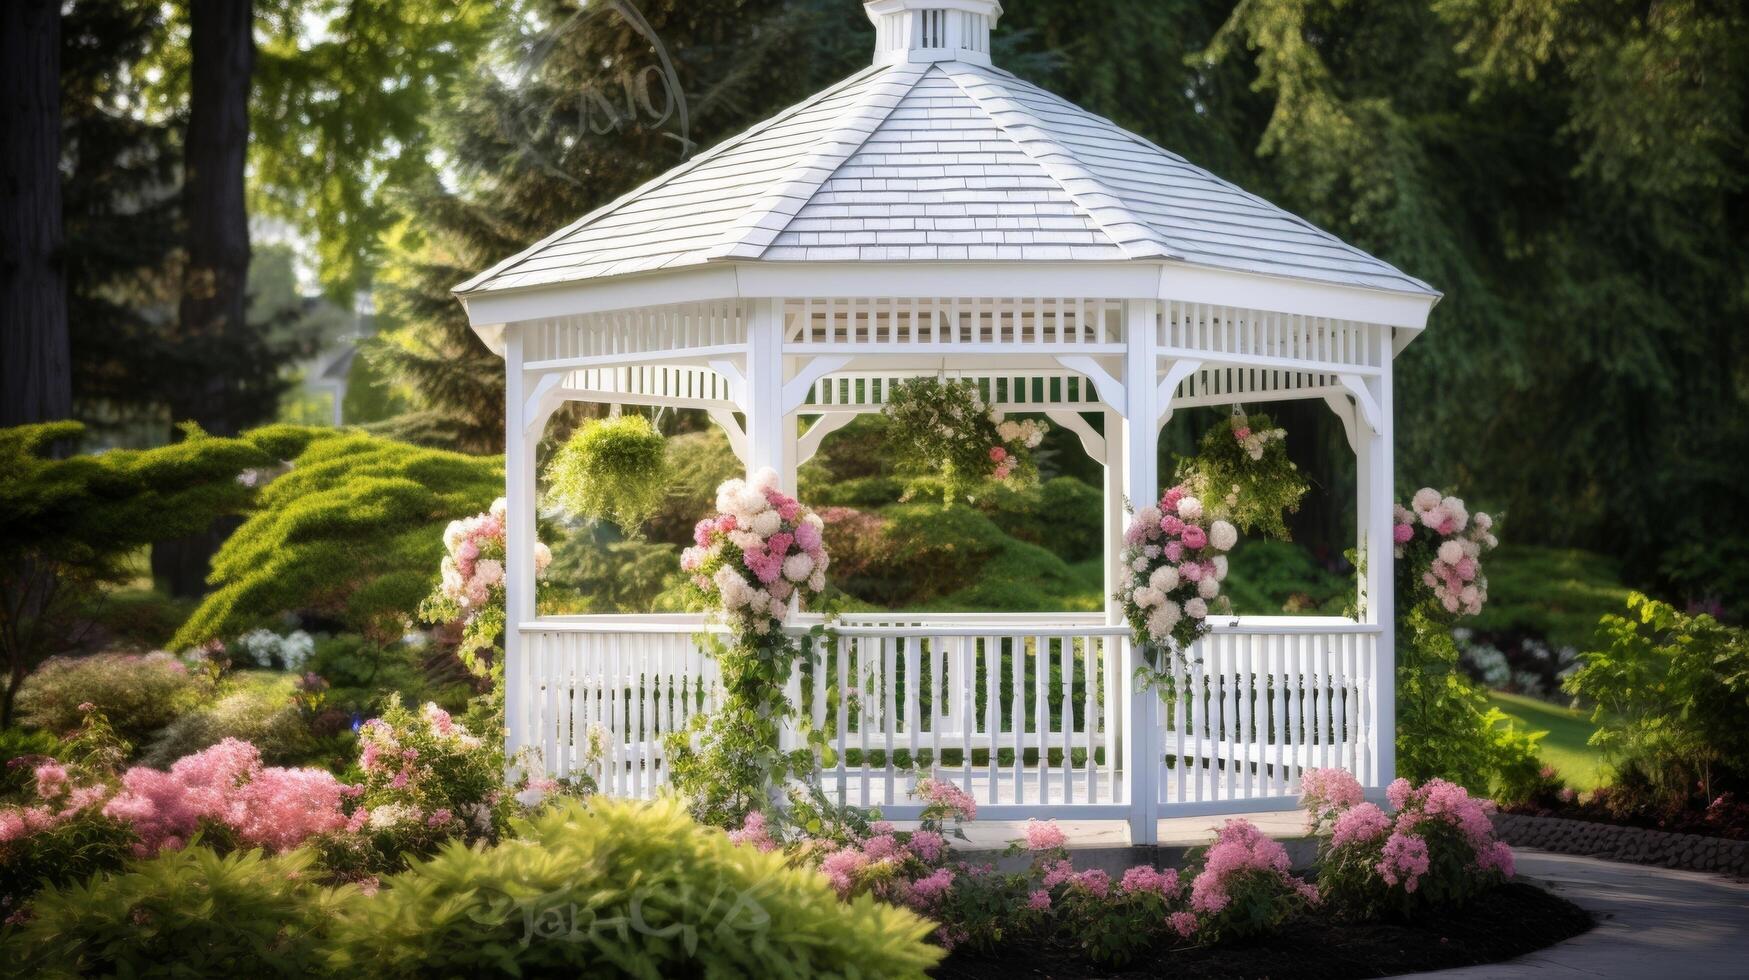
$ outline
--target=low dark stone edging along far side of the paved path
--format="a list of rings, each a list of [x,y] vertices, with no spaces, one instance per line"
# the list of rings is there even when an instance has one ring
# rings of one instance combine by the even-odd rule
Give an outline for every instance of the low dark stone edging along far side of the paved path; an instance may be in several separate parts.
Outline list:
[[[1749,840],[1527,814],[1494,814],[1494,833],[1513,847],[1749,877]]]

